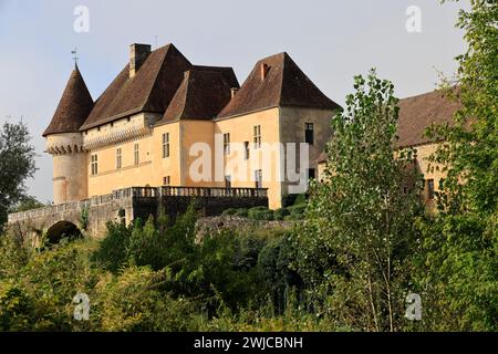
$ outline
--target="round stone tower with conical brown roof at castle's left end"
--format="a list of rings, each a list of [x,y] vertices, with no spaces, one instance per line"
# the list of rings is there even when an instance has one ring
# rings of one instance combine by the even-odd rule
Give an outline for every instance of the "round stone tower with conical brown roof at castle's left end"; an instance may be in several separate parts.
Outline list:
[[[46,153],[53,157],[53,201],[87,198],[87,156],[80,127],[93,108],[93,100],[77,65],[43,133]]]

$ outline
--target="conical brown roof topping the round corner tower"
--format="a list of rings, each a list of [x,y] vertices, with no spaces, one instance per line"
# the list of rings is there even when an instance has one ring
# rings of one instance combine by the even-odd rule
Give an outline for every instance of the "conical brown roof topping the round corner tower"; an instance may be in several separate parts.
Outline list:
[[[92,95],[76,65],[43,136],[58,133],[77,133],[92,107]]]

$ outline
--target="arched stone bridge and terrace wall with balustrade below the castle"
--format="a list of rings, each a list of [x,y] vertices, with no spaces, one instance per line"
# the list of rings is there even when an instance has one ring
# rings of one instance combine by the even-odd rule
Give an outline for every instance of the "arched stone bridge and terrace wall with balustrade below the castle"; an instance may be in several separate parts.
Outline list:
[[[42,236],[51,242],[83,233],[103,237],[105,225],[157,216],[160,208],[175,219],[194,204],[201,216],[220,215],[228,208],[268,207],[264,188],[131,187],[110,195],[9,215],[9,227],[29,233],[38,243]]]

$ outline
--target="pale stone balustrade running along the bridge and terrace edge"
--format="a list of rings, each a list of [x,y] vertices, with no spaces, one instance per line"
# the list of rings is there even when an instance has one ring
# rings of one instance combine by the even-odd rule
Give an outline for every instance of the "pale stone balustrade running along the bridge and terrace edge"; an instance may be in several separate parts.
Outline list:
[[[201,197],[201,198],[266,198],[267,188],[222,188],[222,187],[129,187],[113,190],[112,194],[92,197],[80,201],[70,201],[39,209],[9,214],[9,222],[24,219],[48,217],[54,214],[81,210],[94,206],[106,205],[114,200],[129,198],[159,198],[159,197]]]

